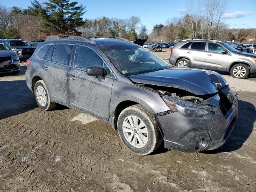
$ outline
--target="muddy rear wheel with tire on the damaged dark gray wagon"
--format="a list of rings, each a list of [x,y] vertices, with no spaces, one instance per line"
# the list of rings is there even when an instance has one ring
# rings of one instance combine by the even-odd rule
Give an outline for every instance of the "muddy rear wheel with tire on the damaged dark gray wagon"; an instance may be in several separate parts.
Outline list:
[[[50,101],[49,91],[43,80],[36,82],[34,86],[34,96],[40,109],[48,111],[56,107],[56,103]]]

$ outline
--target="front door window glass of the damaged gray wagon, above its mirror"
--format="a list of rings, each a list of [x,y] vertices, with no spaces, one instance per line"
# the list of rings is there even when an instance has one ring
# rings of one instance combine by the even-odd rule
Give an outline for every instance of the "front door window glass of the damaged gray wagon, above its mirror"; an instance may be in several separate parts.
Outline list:
[[[100,66],[103,68],[103,60],[96,52],[88,47],[77,46],[74,57],[74,67],[86,70],[89,67]]]

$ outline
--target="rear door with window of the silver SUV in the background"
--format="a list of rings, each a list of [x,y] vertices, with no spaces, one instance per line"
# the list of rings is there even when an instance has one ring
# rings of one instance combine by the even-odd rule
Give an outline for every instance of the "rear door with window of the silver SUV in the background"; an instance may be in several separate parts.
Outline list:
[[[204,68],[206,58],[206,42],[192,42],[187,51],[191,59],[191,67]]]

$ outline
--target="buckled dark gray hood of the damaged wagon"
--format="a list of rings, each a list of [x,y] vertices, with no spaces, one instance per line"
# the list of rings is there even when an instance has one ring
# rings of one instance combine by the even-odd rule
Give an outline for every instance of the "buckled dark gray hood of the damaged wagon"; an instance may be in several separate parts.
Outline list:
[[[226,80],[209,70],[173,67],[165,70],[130,75],[138,84],[166,86],[186,90],[195,95],[214,94],[226,85]]]

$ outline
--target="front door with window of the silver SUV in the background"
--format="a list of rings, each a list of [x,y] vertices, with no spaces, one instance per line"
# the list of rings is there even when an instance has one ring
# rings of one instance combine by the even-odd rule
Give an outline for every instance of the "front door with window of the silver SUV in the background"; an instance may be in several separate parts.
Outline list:
[[[226,70],[230,59],[230,53],[222,53],[226,50],[220,44],[208,42],[205,68],[213,70]]]

